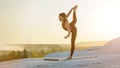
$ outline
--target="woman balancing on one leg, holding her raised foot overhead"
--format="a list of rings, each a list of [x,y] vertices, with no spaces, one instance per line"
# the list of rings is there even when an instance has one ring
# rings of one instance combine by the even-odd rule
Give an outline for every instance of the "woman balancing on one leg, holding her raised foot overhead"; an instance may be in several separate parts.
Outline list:
[[[59,20],[62,22],[62,27],[64,30],[68,31],[68,35],[66,35],[64,38],[68,38],[71,35],[71,52],[70,52],[70,56],[67,58],[67,60],[72,59],[74,50],[75,50],[75,40],[76,40],[76,35],[77,35],[77,28],[75,27],[75,24],[77,22],[77,18],[76,18],[76,9],[77,9],[77,5],[74,6],[69,12],[68,14],[65,13],[60,13],[59,14]],[[69,15],[71,14],[71,12],[73,11],[73,20],[69,23],[67,18],[69,17]]]

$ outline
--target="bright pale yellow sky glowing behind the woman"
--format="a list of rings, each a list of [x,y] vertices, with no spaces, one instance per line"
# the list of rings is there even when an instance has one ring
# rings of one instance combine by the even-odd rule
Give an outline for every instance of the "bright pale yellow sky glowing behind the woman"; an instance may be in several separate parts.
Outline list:
[[[120,37],[120,0],[0,0],[1,44],[69,44],[58,14],[77,8],[76,42]],[[68,18],[72,20],[72,14]]]

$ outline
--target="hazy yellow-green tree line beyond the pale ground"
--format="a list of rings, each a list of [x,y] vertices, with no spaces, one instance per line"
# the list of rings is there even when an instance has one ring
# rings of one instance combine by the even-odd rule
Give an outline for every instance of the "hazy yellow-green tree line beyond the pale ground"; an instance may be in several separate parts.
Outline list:
[[[84,48],[81,48],[81,49],[84,49]],[[80,49],[76,48],[76,50],[80,50]],[[41,57],[45,57],[47,54],[50,54],[50,53],[63,52],[63,51],[70,51],[70,47],[69,48],[49,48],[47,50],[46,49],[42,49],[42,50],[24,49],[22,51],[9,51],[7,54],[6,53],[0,54],[0,62],[14,60],[14,59],[23,59],[23,58],[41,58]]]

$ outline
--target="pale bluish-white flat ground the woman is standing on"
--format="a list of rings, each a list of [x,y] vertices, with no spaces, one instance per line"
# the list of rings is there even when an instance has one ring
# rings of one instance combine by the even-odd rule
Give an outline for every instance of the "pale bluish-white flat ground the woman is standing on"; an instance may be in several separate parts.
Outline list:
[[[76,51],[73,60],[67,61],[44,61],[44,58],[5,61],[0,62],[0,68],[120,68],[120,53],[104,54],[102,49],[93,47]],[[59,52],[45,58],[66,58],[68,55],[68,52]]]

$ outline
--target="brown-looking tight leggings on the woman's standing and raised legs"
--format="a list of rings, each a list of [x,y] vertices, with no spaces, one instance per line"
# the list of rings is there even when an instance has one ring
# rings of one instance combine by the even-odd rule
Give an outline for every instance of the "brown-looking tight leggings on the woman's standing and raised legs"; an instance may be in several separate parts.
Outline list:
[[[75,27],[76,22],[77,22],[76,11],[74,10],[74,12],[73,12],[73,21],[70,23],[71,32],[72,32],[70,56],[73,56],[73,53],[74,53],[74,50],[75,50],[75,40],[76,40],[76,36],[77,36],[77,28]]]

